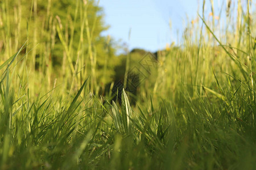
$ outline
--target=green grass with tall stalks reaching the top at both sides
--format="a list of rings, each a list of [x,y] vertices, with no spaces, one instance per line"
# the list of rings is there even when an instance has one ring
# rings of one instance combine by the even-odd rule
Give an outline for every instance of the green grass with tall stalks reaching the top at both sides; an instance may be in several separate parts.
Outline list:
[[[89,5],[67,15],[76,32],[50,3],[36,13],[40,2],[27,19],[0,2],[0,169],[256,169],[255,3],[224,16],[201,7],[181,44],[141,73],[136,96],[126,88],[118,101],[113,66],[90,43]],[[137,63],[126,58],[125,78]]]

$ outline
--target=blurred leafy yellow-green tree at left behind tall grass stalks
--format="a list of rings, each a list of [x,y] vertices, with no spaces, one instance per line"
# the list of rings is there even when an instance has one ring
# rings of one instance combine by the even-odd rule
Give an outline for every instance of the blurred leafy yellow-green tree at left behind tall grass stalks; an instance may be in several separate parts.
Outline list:
[[[79,87],[88,76],[93,91],[113,80],[115,50],[112,40],[101,35],[108,26],[102,8],[94,0],[0,3],[0,16],[5,16],[0,25],[3,48],[11,44],[5,59],[27,40],[30,45],[24,53],[36,46],[27,56],[27,65],[49,77],[54,72],[71,89]]]

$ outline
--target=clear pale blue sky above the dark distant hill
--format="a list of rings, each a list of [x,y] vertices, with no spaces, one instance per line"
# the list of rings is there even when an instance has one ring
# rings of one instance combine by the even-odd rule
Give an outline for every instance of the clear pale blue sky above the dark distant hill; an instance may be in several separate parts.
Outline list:
[[[207,2],[206,10],[209,10]],[[202,0],[101,0],[105,23],[110,25],[103,34],[126,42],[129,49],[154,52],[172,41],[177,43],[185,24],[196,18],[198,7],[201,11],[201,3]],[[215,7],[221,4],[222,0],[214,0]]]

